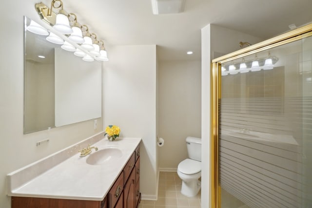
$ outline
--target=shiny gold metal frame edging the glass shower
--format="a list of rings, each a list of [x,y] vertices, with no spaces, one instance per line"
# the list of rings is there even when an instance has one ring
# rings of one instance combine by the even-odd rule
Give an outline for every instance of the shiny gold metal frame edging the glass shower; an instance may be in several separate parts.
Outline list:
[[[218,185],[218,114],[219,114],[219,99],[221,98],[221,64],[232,61],[237,58],[242,58],[248,55],[259,53],[280,45],[284,45],[302,38],[312,36],[312,24],[297,28],[285,34],[270,38],[260,43],[254,44],[247,48],[238,50],[228,55],[218,57],[212,60],[211,63],[211,133],[210,133],[210,152],[211,152],[211,208],[221,208],[221,188]]]

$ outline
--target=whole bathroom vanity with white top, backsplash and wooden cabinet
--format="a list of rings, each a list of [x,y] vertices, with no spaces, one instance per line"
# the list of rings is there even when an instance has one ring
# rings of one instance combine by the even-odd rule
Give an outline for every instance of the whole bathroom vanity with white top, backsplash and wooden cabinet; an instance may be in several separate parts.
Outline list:
[[[101,132],[8,174],[11,207],[137,208],[141,197],[140,141],[108,141]],[[79,157],[78,150],[88,144],[98,151]]]

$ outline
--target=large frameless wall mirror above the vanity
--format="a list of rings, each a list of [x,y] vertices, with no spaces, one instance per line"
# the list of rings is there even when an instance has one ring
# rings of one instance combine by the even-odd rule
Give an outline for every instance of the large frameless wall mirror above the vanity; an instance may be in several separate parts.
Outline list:
[[[102,70],[47,36],[24,17],[24,134],[101,117]]]

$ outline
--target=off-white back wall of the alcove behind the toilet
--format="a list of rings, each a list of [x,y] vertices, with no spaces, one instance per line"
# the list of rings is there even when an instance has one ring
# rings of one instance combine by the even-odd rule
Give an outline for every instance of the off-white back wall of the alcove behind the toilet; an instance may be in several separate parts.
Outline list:
[[[188,157],[185,138],[201,137],[200,69],[200,61],[159,62],[158,136],[165,139],[160,170],[176,171]]]

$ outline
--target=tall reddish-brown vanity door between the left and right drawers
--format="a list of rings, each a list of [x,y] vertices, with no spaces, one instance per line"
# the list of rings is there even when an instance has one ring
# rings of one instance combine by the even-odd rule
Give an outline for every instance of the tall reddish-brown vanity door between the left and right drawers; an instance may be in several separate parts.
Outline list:
[[[136,171],[132,171],[123,189],[123,208],[135,208],[135,201],[136,201]]]

